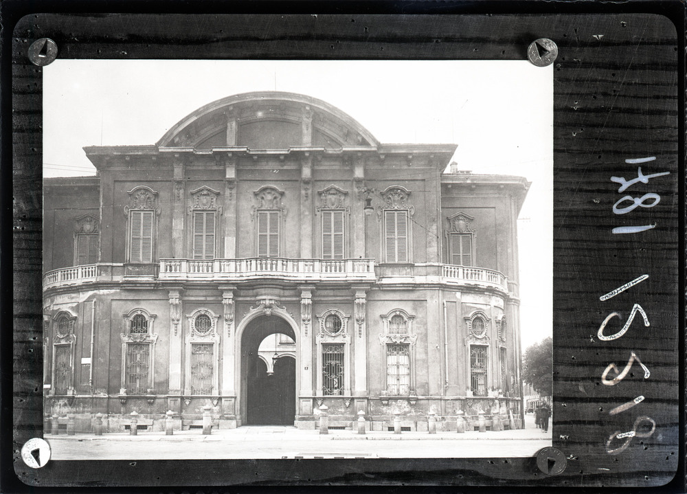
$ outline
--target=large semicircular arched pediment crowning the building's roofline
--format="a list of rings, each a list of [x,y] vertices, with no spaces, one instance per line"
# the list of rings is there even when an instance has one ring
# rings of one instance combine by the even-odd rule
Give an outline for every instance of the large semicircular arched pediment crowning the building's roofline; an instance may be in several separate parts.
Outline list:
[[[317,98],[281,91],[229,96],[184,117],[157,142],[159,148],[211,149],[293,146],[379,146],[352,117]]]

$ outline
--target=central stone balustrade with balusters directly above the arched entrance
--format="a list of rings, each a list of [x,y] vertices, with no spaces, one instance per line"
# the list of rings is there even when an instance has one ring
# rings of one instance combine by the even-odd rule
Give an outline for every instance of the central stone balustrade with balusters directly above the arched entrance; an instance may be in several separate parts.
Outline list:
[[[160,280],[374,281],[374,259],[161,259]]]

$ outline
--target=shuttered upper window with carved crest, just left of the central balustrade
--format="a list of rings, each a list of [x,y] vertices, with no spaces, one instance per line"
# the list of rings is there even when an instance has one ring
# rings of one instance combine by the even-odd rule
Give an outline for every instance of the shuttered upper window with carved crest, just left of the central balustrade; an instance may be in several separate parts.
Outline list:
[[[128,216],[128,262],[153,262],[155,251],[155,218],[160,214],[155,190],[139,186],[130,190],[124,206]]]

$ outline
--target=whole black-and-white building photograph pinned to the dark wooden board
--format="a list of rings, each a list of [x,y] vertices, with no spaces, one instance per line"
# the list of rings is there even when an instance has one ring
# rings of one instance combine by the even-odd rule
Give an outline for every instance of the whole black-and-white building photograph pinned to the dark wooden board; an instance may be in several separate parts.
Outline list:
[[[43,104],[55,459],[551,445],[552,67],[58,60]]]

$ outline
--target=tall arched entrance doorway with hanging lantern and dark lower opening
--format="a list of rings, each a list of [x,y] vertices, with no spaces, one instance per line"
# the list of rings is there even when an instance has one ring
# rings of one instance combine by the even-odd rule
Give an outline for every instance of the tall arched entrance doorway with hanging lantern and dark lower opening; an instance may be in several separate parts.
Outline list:
[[[293,425],[295,334],[281,317],[261,315],[241,336],[241,415],[245,425]]]

